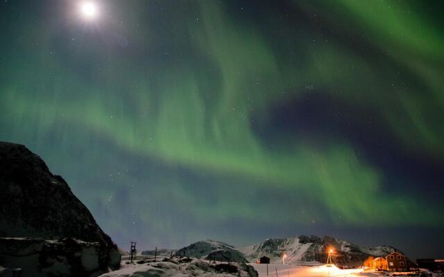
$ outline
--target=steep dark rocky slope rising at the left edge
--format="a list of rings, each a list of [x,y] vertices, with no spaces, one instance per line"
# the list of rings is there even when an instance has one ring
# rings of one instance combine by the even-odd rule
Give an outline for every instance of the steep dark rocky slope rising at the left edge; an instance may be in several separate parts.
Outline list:
[[[85,255],[97,256],[101,271],[119,268],[120,254],[110,237],[96,224],[92,214],[71,192],[66,181],[53,175],[44,161],[24,145],[0,142],[0,191],[0,237],[43,239],[26,241],[29,247],[42,251],[51,247],[60,253],[65,253],[67,249],[75,250],[67,253],[67,257],[71,253],[78,255],[78,247],[95,249],[85,252]],[[16,243],[17,253],[14,253],[11,249],[15,249],[13,244]],[[86,246],[87,243],[93,244]],[[12,262],[10,256],[22,260],[26,256],[23,253],[28,253],[20,250],[23,244],[24,241],[8,240],[8,249],[0,249],[0,265],[8,267],[5,262]],[[40,245],[43,245],[42,248]],[[74,247],[74,250],[70,247]],[[46,253],[42,252],[41,255],[45,256]],[[83,250],[80,253],[83,257]],[[68,264],[71,260],[67,258]],[[81,275],[89,276],[89,272]],[[24,271],[22,276],[37,276],[37,273],[28,275]]]

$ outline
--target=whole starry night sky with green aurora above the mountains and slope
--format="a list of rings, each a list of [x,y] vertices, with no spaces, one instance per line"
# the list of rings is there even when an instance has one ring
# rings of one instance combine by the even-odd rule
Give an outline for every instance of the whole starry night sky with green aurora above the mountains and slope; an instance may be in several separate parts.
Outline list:
[[[81,3],[0,3],[0,140],[119,246],[444,256],[444,1]]]

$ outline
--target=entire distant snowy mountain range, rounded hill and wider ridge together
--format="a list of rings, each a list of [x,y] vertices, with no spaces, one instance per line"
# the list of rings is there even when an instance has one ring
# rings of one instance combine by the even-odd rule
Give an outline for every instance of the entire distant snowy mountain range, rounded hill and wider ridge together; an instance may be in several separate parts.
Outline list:
[[[336,265],[358,267],[363,265],[368,256],[386,256],[393,251],[402,253],[390,246],[368,247],[331,237],[319,238],[316,235],[300,235],[296,238],[267,239],[262,243],[247,247],[232,247],[230,244],[214,240],[202,240],[179,249],[177,256],[188,256],[205,260],[223,260],[232,262],[255,262],[257,258],[267,256],[271,263],[282,262],[285,253],[287,264],[317,264],[327,260],[327,249],[334,248],[332,256]]]

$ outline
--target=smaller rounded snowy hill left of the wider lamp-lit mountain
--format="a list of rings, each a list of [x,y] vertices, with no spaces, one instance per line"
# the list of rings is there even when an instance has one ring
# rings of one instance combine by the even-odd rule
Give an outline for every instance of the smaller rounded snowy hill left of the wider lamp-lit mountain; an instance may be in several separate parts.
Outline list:
[[[179,249],[176,255],[221,262],[247,262],[244,254],[234,249],[230,244],[215,240],[194,242],[187,247]]]

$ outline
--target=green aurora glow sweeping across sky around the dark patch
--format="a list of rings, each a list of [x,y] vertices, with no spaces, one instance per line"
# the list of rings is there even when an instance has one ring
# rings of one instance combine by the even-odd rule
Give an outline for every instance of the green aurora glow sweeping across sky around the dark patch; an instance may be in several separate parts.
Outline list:
[[[261,26],[275,28],[260,28],[253,16],[236,16],[222,3],[186,3],[176,9],[170,3],[162,15],[153,15],[160,2],[145,3],[153,15],[146,19],[137,11],[141,3],[128,2],[119,11],[122,18],[133,12],[125,24],[99,23],[105,38],[82,40],[78,26],[53,24],[59,17],[32,28],[31,20],[6,28],[3,33],[13,39],[1,57],[0,139],[45,153],[50,168],[67,177],[93,213],[116,218],[104,224],[114,233],[126,222],[109,197],[119,194],[121,184],[137,186],[124,204],[135,211],[135,221],[157,219],[153,238],[176,228],[176,219],[144,206],[158,199],[168,199],[171,209],[196,224],[235,217],[265,224],[443,226],[442,206],[409,190],[387,193],[382,168],[366,161],[345,136],[326,138],[322,146],[297,134],[276,134],[264,143],[253,127],[266,125],[269,107],[316,91],[377,111],[403,148],[442,161],[441,22],[422,16],[417,2],[293,1],[305,21],[291,26],[285,16],[264,17]],[[110,45],[107,24],[139,50]],[[76,39],[69,41],[71,36]],[[343,37],[364,50],[344,44]],[[111,148],[148,159],[140,170],[150,177],[136,180],[131,163],[109,153]],[[157,173],[149,168],[153,161]],[[123,170],[107,186],[88,184],[85,176],[100,178],[89,168],[119,163]],[[209,184],[197,189],[171,173],[178,169]],[[270,196],[258,205],[270,186],[288,198]],[[196,190],[207,191],[210,199]]]

